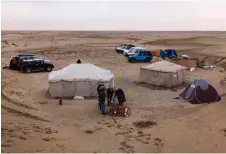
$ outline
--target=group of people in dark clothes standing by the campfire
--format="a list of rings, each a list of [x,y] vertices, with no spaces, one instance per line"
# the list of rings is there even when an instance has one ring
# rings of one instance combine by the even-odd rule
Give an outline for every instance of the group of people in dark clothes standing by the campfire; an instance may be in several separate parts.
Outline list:
[[[105,88],[104,84],[99,84],[97,87],[97,93],[99,96],[99,107],[100,111],[103,115],[105,112],[105,100],[107,97],[107,105],[109,106],[111,103],[117,103],[118,105],[123,105],[126,102],[124,91],[121,88],[115,89],[112,86],[109,88]]]

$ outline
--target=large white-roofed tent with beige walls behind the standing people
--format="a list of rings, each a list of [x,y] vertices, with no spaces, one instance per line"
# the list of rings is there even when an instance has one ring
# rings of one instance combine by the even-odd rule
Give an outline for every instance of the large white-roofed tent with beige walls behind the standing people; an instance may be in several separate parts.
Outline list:
[[[95,96],[98,83],[114,86],[114,74],[93,64],[70,64],[48,76],[52,97]]]

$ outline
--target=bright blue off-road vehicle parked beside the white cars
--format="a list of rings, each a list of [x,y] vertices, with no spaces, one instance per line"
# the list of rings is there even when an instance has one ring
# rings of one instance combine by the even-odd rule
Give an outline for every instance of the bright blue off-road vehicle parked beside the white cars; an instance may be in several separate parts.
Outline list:
[[[129,62],[136,62],[136,61],[145,61],[145,62],[150,62],[152,60],[153,56],[150,51],[147,50],[139,50],[134,55],[131,55],[128,57]]]

